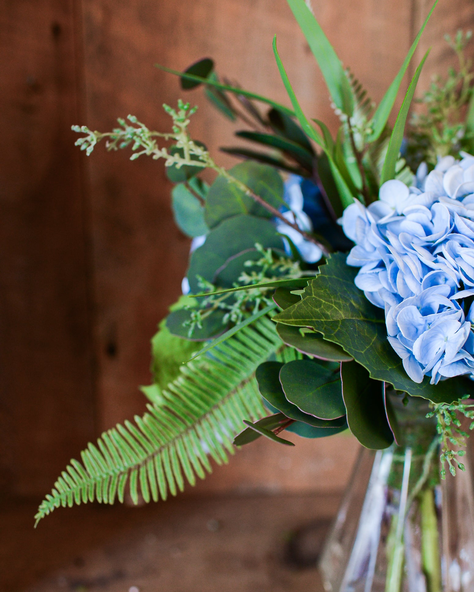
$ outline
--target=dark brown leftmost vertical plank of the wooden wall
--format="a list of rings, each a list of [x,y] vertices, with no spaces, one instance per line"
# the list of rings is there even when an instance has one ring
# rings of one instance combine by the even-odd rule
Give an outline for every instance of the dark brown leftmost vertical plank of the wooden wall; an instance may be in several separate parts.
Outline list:
[[[0,13],[3,491],[47,491],[93,435],[74,3]]]

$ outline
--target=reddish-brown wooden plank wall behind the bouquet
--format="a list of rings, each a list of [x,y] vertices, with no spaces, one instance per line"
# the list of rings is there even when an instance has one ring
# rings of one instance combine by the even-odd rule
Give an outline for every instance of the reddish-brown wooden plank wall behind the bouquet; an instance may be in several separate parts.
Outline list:
[[[344,64],[378,100],[431,0],[312,3]],[[420,60],[433,46],[420,88],[453,61],[443,33],[473,25],[472,0],[440,0],[417,54]],[[86,158],[73,147],[71,124],[108,130],[131,113],[151,128],[167,128],[161,105],[175,104],[181,93],[176,79],[153,64],[182,69],[204,56],[214,57],[221,75],[288,103],[273,61],[275,33],[305,111],[334,131],[327,89],[285,0],[2,3],[4,495],[42,496],[89,439],[143,411],[138,385],[150,381],[149,340],[178,297],[188,258],[162,164],[130,162],[127,153],[102,147]],[[201,91],[188,96],[199,105],[192,133],[217,155],[233,126]],[[259,442],[201,490],[340,491],[357,451],[354,440],[301,442],[284,456]]]

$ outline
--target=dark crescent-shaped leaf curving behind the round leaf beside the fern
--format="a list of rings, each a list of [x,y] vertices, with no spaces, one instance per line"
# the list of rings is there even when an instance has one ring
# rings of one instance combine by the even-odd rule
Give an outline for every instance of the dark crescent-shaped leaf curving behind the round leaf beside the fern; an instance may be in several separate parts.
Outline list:
[[[346,418],[341,417],[334,420],[319,419],[303,413],[296,405],[290,403],[285,397],[282,385],[280,383],[280,370],[283,367],[282,362],[263,362],[257,368],[255,377],[259,384],[259,391],[264,398],[265,405],[270,406],[270,410],[278,410],[298,422],[305,422],[314,427],[321,429],[334,429],[346,424]],[[328,434],[329,435],[329,434]]]

